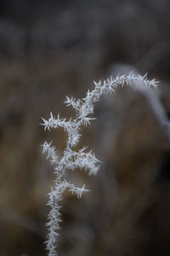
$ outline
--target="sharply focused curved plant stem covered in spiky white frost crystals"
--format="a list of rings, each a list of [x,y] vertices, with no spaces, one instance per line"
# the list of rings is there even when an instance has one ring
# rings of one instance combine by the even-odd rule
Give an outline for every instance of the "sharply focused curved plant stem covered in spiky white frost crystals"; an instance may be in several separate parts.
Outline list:
[[[155,79],[149,80],[139,75],[130,73],[129,75],[117,76],[116,78],[106,79],[103,83],[94,82],[94,90],[88,90],[86,96],[82,99],[75,99],[73,97],[66,96],[66,106],[71,106],[75,109],[76,115],[71,119],[62,119],[54,117],[53,113],[50,113],[48,120],[42,118],[42,125],[45,130],[50,131],[51,129],[64,128],[68,134],[65,150],[62,156],[59,157],[57,150],[51,143],[44,142],[42,145],[42,153],[47,154],[48,160],[51,164],[54,164],[54,187],[49,193],[48,206],[51,208],[48,214],[48,240],[47,249],[48,256],[56,256],[56,241],[59,236],[59,223],[61,221],[60,214],[60,201],[65,189],[71,191],[73,195],[81,197],[83,192],[88,192],[85,189],[85,185],[82,188],[78,188],[73,183],[65,180],[66,170],[75,170],[77,168],[85,169],[88,173],[96,174],[99,170],[99,160],[96,159],[92,150],[87,151],[87,147],[75,150],[74,147],[81,137],[82,126],[90,125],[90,121],[94,118],[89,117],[90,114],[94,113],[94,103],[99,102],[100,96],[115,91],[115,88],[120,85],[124,86],[139,86],[142,88],[149,88],[150,86],[157,86]]]

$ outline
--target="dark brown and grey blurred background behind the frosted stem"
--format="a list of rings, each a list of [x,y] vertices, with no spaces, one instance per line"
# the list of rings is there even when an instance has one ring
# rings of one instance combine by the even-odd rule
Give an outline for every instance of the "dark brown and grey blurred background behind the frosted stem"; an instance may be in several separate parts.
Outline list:
[[[96,105],[81,145],[102,161],[97,177],[67,174],[91,192],[65,193],[63,256],[170,255],[170,3],[168,0],[0,1],[0,255],[46,255],[54,166],[41,117],[74,113],[65,96],[93,80],[148,73],[159,89],[118,89]]]

